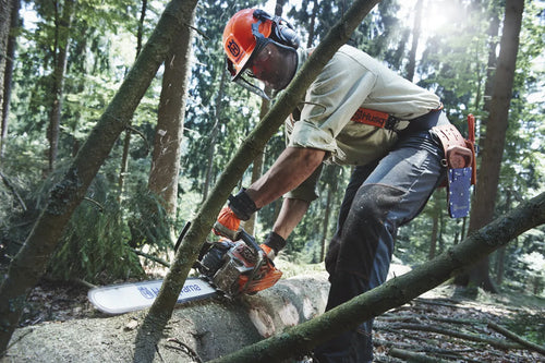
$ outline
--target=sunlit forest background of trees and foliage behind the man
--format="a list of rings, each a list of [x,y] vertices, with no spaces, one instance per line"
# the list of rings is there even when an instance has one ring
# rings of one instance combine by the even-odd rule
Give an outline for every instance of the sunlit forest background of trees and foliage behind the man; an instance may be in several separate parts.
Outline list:
[[[2,53],[3,266],[24,243],[49,191],[65,174],[119,88],[166,2],[14,3],[10,43]],[[149,259],[142,263],[138,255],[162,259],[172,255],[173,235],[192,220],[241,141],[259,122],[259,109],[267,106],[228,82],[221,47],[222,28],[234,11],[261,5],[275,12],[272,4],[259,1],[197,5],[190,87],[185,104],[179,105],[183,114],[172,118],[161,104],[171,87],[164,68],[75,210],[48,264],[49,277],[90,283],[144,278]],[[305,0],[287,1],[282,10],[302,34],[304,46],[312,47],[347,7],[342,1]],[[495,207],[498,216],[545,189],[544,9],[543,1],[525,2]],[[482,141],[491,98],[487,81],[495,71],[504,11],[502,2],[495,0],[385,0],[350,44],[438,94],[463,133],[468,113],[475,114]],[[165,124],[169,119],[177,122]],[[172,134],[173,140],[164,137]],[[266,170],[283,145],[280,131],[240,186]],[[283,258],[310,264],[323,259],[349,176],[350,168],[325,169],[320,197],[290,237]],[[399,231],[395,255],[402,263],[421,264],[463,239],[467,221],[450,219],[445,201],[445,191],[438,190],[423,214]],[[278,203],[263,208],[255,225],[246,228],[263,240],[278,209]],[[543,297],[544,231],[533,229],[491,256],[488,273],[497,287]]]

